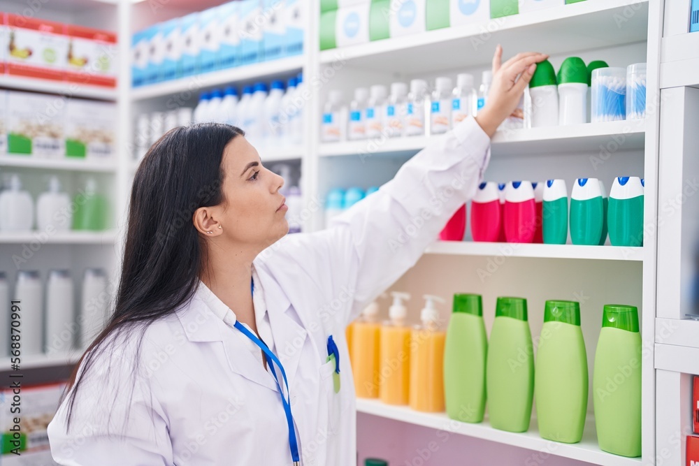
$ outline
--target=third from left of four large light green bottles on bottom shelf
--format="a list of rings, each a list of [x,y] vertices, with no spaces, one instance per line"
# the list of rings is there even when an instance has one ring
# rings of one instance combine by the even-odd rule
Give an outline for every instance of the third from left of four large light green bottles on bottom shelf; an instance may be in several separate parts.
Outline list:
[[[547,301],[536,354],[536,415],[544,439],[575,444],[587,414],[587,354],[580,304]]]

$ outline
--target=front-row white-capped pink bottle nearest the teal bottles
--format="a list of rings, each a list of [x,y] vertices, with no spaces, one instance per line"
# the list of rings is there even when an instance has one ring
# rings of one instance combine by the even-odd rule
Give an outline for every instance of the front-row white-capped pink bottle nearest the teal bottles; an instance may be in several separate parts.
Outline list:
[[[503,224],[507,242],[533,242],[536,231],[536,202],[531,182],[507,183]]]

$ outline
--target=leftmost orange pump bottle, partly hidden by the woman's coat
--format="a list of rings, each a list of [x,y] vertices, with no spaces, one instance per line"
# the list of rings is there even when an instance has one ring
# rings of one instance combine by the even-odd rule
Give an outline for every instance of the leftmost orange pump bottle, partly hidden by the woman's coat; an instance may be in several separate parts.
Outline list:
[[[379,397],[379,344],[381,326],[377,322],[379,305],[374,301],[352,324],[352,372],[354,390],[359,398]]]

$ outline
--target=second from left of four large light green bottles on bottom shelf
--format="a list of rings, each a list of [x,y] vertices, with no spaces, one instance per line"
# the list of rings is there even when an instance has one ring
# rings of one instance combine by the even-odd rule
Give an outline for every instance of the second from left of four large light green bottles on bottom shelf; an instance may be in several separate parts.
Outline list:
[[[493,428],[526,432],[534,395],[534,351],[526,299],[498,298],[486,364]]]

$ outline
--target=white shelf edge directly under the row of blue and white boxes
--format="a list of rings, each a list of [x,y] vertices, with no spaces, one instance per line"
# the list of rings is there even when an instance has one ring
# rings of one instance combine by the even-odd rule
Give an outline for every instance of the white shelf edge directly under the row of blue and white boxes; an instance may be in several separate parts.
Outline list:
[[[131,90],[131,99],[143,101],[156,97],[168,96],[179,92],[194,93],[199,89],[228,85],[240,81],[256,79],[273,79],[286,75],[291,71],[301,71],[305,57],[298,55],[273,61],[264,61],[258,64],[228,68],[221,71],[213,71],[202,75],[189,76],[176,80],[160,82],[158,84],[136,87]]]

